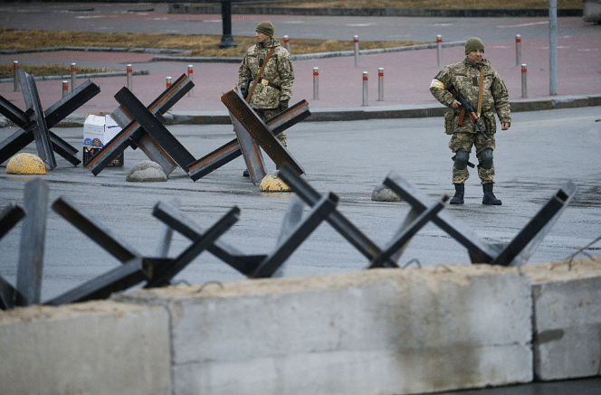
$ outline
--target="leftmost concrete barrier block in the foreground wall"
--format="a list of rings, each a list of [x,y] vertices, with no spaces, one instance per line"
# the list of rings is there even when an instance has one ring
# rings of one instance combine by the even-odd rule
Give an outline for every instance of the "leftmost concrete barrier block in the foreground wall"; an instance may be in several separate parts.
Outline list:
[[[164,308],[110,301],[0,313],[3,395],[171,394]]]

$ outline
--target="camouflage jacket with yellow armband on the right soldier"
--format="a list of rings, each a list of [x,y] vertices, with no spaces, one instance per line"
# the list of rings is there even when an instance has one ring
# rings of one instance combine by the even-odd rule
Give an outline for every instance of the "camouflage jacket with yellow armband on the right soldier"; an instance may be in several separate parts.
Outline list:
[[[511,110],[507,88],[505,88],[505,83],[501,80],[499,73],[492,68],[491,62],[486,59],[482,60],[481,64],[477,64],[468,61],[466,58],[458,63],[445,66],[432,80],[430,92],[444,106],[451,107],[453,95],[446,89],[453,86],[459,93],[463,94],[473,110],[478,111],[478,93],[480,91],[482,67],[484,68],[482,118],[485,118],[488,121],[487,123],[492,123],[491,127],[494,129],[494,114],[492,112],[494,110],[501,123],[510,124]]]

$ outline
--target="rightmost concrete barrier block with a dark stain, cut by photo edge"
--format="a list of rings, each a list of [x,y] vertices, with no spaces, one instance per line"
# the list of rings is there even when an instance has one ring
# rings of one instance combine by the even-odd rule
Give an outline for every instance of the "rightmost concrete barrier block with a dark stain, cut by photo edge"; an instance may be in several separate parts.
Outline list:
[[[534,374],[561,380],[601,374],[601,258],[526,267],[534,303]]]

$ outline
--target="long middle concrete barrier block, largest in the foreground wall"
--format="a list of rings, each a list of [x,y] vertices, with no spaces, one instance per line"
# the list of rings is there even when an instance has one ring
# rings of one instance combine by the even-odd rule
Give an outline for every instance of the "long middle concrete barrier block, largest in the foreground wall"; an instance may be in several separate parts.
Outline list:
[[[532,380],[529,280],[487,265],[140,290],[175,394],[402,394]]]

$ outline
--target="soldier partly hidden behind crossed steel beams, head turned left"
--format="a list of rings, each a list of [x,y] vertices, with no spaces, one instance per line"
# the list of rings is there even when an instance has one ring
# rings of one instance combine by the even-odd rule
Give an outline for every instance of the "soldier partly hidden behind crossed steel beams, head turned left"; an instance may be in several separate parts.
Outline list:
[[[256,44],[248,49],[238,69],[238,86],[254,112],[266,121],[288,108],[292,97],[294,70],[291,54],[273,39],[271,22],[262,22],[255,29]],[[276,136],[282,146],[286,132]],[[247,176],[247,171],[244,176]]]

